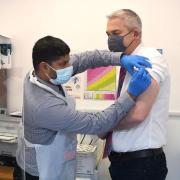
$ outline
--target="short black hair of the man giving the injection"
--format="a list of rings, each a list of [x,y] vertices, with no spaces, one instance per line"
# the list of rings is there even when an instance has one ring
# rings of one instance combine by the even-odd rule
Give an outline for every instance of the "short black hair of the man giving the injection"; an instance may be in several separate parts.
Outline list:
[[[69,46],[61,39],[46,36],[39,39],[32,51],[33,67],[38,71],[39,64],[44,61],[51,65],[53,61],[70,53]]]

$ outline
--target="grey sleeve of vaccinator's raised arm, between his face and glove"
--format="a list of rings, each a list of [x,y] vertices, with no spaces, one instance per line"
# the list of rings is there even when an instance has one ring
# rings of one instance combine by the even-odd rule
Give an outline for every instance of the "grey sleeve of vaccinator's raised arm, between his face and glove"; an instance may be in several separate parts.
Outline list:
[[[106,50],[86,51],[84,53],[73,54],[70,63],[73,65],[74,73],[81,73],[87,69],[105,66],[120,66],[120,56],[122,53],[113,53]]]

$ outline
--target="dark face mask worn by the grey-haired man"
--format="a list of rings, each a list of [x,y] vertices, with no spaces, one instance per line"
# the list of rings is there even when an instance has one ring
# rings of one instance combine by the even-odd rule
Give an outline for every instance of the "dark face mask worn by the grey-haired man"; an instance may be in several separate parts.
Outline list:
[[[109,35],[108,36],[108,48],[109,48],[109,50],[112,52],[124,52],[132,43],[131,42],[128,47],[125,47],[123,44],[124,37],[127,36],[128,34],[130,34],[131,32],[132,31],[128,32],[124,36]]]

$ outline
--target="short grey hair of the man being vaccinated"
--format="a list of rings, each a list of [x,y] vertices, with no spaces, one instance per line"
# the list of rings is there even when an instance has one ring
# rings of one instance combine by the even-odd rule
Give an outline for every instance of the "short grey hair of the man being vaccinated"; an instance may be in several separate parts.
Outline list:
[[[110,15],[108,15],[107,18],[108,19],[121,18],[124,20],[128,30],[132,30],[133,28],[136,28],[139,30],[139,32],[142,31],[142,22],[140,17],[130,9],[120,9],[114,11]]]

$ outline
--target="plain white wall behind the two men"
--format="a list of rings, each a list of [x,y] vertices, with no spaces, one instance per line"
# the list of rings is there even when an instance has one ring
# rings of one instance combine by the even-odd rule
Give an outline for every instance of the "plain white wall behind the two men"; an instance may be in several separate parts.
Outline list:
[[[32,67],[31,51],[42,36],[54,35],[65,40],[73,50],[107,48],[106,15],[113,10],[130,8],[143,22],[143,41],[164,49],[172,76],[172,111],[180,111],[180,1],[179,0],[0,0],[0,34],[12,38],[13,69],[9,76],[10,111],[22,106],[22,80]],[[180,121],[169,122],[167,146],[169,166],[180,167]],[[178,170],[169,180],[180,177]]]

